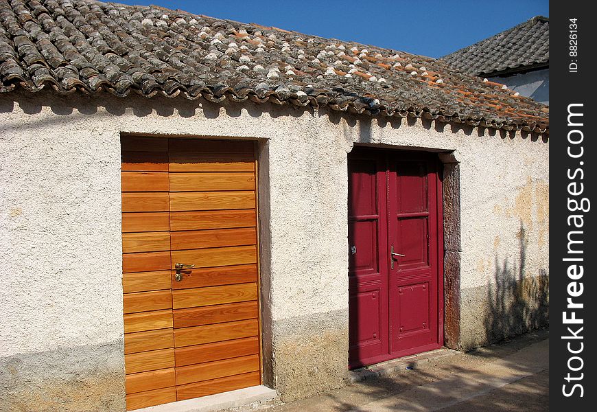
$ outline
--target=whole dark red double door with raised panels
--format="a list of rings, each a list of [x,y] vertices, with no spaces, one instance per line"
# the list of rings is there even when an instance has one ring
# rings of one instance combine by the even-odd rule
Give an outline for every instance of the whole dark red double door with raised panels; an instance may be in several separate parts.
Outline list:
[[[421,152],[351,152],[350,367],[443,344],[437,163]]]

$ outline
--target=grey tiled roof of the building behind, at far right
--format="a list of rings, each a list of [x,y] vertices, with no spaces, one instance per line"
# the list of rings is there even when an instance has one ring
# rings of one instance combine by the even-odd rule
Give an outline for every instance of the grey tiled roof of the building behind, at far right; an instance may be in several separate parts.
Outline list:
[[[509,69],[548,65],[550,21],[547,17],[535,16],[495,36],[443,56],[441,60],[471,76],[489,76]]]

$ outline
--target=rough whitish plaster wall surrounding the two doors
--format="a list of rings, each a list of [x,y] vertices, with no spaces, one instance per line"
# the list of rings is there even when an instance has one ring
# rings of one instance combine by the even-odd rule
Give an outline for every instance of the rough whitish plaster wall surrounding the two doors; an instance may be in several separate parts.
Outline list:
[[[541,139],[279,106],[59,98],[46,92],[1,96],[0,125],[0,150],[6,154],[0,356],[14,362],[36,353],[51,360],[60,358],[51,353],[71,348],[85,365],[78,382],[93,382],[97,371],[110,376],[114,409],[124,408],[121,132],[268,139],[261,146],[268,150],[270,171],[263,295],[270,306],[264,330],[271,339],[264,346],[272,361],[266,362],[271,368],[266,381],[285,400],[339,387],[347,379],[347,152],[355,142],[455,150],[461,179],[461,305],[473,306],[460,314],[462,341],[487,336],[471,319],[479,308],[491,307],[487,285],[500,284],[496,274],[504,272],[502,277],[515,282],[521,273],[515,268],[524,266],[524,277],[548,270],[548,144]],[[504,264],[508,270],[501,271]],[[469,299],[468,290],[481,292]],[[78,350],[86,345],[110,346],[109,359],[94,361]],[[46,369],[62,382],[65,374],[72,376],[57,361]],[[37,385],[34,368],[17,373]],[[47,382],[48,374],[39,376]],[[77,404],[75,391],[59,397]]]

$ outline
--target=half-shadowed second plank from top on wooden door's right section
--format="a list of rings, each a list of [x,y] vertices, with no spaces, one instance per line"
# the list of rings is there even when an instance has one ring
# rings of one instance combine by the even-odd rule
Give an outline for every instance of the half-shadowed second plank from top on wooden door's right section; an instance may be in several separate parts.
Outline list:
[[[255,172],[253,153],[171,152],[170,172]]]

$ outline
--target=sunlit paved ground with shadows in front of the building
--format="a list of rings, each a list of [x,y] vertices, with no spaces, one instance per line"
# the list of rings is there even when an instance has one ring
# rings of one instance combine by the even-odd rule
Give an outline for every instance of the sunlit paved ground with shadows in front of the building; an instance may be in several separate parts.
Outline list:
[[[548,352],[548,332],[538,331],[267,411],[548,411]]]

